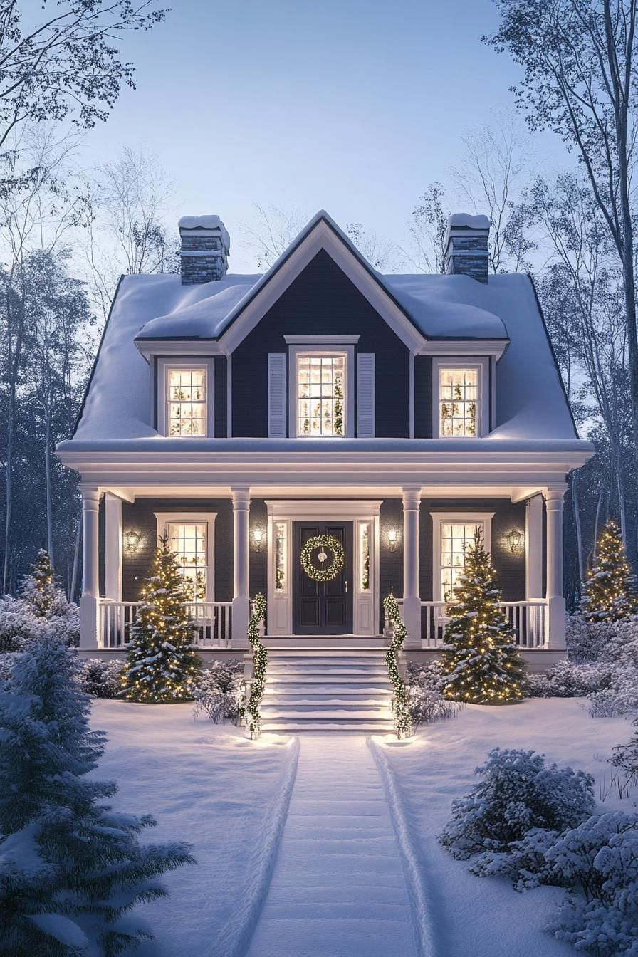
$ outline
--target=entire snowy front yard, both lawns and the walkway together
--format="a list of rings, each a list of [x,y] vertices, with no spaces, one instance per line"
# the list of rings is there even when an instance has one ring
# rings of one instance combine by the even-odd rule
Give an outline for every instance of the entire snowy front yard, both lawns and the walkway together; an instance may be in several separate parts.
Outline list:
[[[144,908],[158,941],[141,957],[574,954],[542,930],[561,890],[517,894],[474,878],[436,835],[495,746],[588,770],[599,798],[605,758],[632,728],[591,719],[581,703],[469,706],[408,742],[302,735],[296,780],[297,739],[253,743],[243,729],[193,722],[187,704],[95,701],[114,805],[153,813],[149,838],[188,840],[199,861],[166,877],[169,900]],[[610,795],[604,808],[636,797]]]

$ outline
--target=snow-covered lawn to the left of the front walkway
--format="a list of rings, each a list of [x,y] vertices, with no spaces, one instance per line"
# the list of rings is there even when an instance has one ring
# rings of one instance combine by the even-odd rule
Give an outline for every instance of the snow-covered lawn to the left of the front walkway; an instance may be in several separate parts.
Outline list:
[[[186,840],[197,866],[165,876],[170,899],[141,912],[157,942],[141,957],[231,957],[248,944],[268,891],[297,765],[297,741],[193,721],[192,704],[94,701],[108,734],[96,776],[118,811],[151,813],[148,840]]]

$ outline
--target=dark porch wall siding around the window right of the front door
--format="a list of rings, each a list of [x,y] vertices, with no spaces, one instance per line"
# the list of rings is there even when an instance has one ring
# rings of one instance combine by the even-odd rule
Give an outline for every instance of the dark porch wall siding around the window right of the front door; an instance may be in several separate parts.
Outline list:
[[[492,560],[505,601],[525,599],[525,502],[513,505],[503,499],[468,501],[421,501],[419,578],[422,601],[432,600],[432,519],[431,512],[495,512],[492,520]],[[521,532],[521,543],[513,554],[505,541],[511,529]]]

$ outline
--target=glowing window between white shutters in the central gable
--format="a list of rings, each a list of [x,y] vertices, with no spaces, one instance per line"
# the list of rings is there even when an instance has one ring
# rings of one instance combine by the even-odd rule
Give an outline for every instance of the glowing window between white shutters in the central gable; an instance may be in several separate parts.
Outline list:
[[[297,355],[297,435],[345,435],[344,355]]]

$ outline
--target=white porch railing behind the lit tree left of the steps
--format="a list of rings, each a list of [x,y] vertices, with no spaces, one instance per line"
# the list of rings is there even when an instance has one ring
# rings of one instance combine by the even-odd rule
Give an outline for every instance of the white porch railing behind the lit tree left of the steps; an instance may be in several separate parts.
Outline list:
[[[111,601],[99,599],[100,648],[125,648],[129,641],[130,627],[135,621],[139,601]],[[195,629],[193,645],[197,648],[229,648],[231,645],[232,617],[230,601],[192,602],[184,606],[193,620]]]

